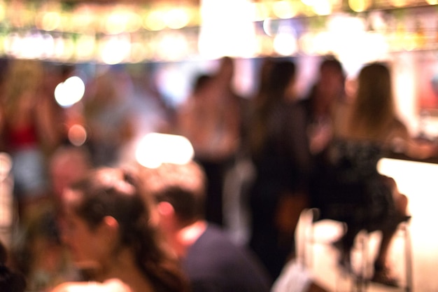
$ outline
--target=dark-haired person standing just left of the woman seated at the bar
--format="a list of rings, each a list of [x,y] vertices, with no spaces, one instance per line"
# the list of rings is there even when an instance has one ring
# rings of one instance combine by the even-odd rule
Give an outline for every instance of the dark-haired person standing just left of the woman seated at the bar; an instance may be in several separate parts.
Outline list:
[[[332,55],[323,56],[316,71],[316,80],[309,92],[291,106],[289,130],[302,169],[299,186],[305,194],[306,207],[321,207],[325,200],[320,179],[325,166],[325,151],[330,145],[334,127],[344,124],[348,109],[344,68]]]

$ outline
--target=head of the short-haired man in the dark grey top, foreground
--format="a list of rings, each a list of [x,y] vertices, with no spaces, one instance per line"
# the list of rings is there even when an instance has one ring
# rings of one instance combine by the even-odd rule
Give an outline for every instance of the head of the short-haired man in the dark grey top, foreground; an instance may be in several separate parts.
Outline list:
[[[206,176],[196,162],[164,163],[156,169],[144,169],[142,181],[157,202],[159,212],[166,204],[174,210],[177,228],[204,220]]]

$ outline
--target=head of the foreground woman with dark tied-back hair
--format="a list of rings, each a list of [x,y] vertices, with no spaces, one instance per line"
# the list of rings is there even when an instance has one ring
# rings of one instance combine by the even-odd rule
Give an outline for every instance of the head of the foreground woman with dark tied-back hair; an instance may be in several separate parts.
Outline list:
[[[80,267],[100,267],[116,251],[134,249],[136,240],[155,241],[136,181],[122,170],[93,170],[64,190],[62,204],[63,239]]]

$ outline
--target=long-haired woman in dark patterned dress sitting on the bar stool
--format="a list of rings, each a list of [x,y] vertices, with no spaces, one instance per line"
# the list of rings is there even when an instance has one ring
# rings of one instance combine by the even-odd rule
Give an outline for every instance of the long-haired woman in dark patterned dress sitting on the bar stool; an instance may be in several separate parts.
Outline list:
[[[366,64],[360,70],[346,123],[334,129],[334,139],[327,148],[329,167],[326,184],[322,186],[343,190],[354,183],[358,185],[358,193],[361,191],[365,200],[354,209],[346,222],[346,234],[337,243],[341,244],[341,261],[347,267],[350,265],[351,249],[360,230],[380,230],[382,238],[374,260],[372,281],[388,286],[398,286],[388,263],[390,242],[397,225],[410,216],[407,197],[400,193],[394,179],[379,174],[377,162],[388,151],[403,151],[416,158],[437,154],[437,146],[418,144],[411,139],[394,106],[388,66]]]

